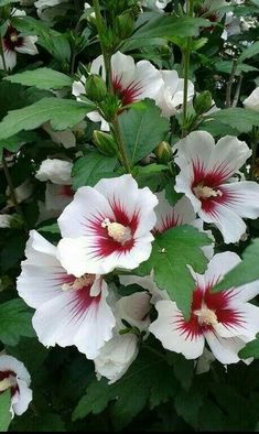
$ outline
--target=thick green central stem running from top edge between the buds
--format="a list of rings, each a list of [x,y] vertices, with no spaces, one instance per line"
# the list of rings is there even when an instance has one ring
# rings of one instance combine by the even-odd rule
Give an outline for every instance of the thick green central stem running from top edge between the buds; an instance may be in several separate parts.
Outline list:
[[[115,89],[114,89],[114,84],[112,84],[111,53],[110,53],[110,48],[107,47],[107,44],[106,44],[106,42],[104,40],[104,36],[107,34],[107,29],[106,29],[106,24],[104,22],[101,13],[100,13],[99,0],[93,0],[93,4],[94,4],[94,9],[95,9],[95,14],[96,14],[96,28],[97,28],[97,31],[98,31],[99,41],[100,41],[100,47],[101,47],[104,62],[105,62],[107,86],[108,86],[109,93],[111,95],[114,95]],[[115,113],[114,119],[111,120],[110,123],[111,123],[111,127],[112,127],[115,139],[116,139],[117,144],[118,144],[120,162],[123,165],[125,170],[128,173],[131,173],[131,165],[130,165],[130,162],[128,160],[128,155],[127,155],[127,152],[126,152],[126,149],[125,149],[123,140],[121,138],[120,128],[119,128],[119,119],[118,119],[118,115],[117,113]]]

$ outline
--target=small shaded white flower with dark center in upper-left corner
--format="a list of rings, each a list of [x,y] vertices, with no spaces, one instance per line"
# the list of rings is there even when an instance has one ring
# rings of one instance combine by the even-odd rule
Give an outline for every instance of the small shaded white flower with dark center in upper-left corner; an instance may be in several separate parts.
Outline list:
[[[12,17],[22,15],[25,15],[24,11],[19,11],[18,9],[12,11]],[[8,70],[12,70],[17,65],[18,53],[31,55],[37,54],[35,45],[36,41],[37,36],[25,36],[9,23],[7,31],[2,36],[4,62],[2,56],[0,56],[0,69],[7,68]]]

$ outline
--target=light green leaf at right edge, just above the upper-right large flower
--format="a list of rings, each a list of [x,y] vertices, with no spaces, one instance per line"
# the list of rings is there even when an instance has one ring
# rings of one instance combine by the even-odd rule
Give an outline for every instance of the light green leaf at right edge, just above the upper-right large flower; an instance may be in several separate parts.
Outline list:
[[[258,112],[239,107],[214,111],[205,116],[205,119],[215,119],[239,132],[249,132],[253,126],[259,127]]]

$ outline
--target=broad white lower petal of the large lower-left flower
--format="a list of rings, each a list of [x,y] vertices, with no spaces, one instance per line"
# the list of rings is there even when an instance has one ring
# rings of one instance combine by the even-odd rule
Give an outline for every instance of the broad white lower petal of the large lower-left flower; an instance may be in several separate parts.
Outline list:
[[[102,281],[104,282],[104,281]],[[66,291],[44,303],[33,317],[33,327],[45,346],[76,345],[88,358],[95,358],[111,338],[115,317],[106,303],[108,291],[102,283],[101,297],[80,300],[77,291]]]

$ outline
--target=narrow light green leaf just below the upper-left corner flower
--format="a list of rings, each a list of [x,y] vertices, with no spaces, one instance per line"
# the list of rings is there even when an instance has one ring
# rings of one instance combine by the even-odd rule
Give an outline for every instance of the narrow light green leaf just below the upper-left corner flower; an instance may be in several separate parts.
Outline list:
[[[35,86],[39,89],[62,89],[73,85],[72,77],[51,68],[25,70],[24,73],[9,75],[8,82],[19,83],[23,86]]]

